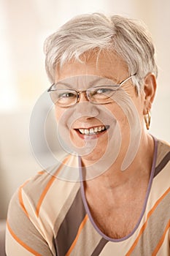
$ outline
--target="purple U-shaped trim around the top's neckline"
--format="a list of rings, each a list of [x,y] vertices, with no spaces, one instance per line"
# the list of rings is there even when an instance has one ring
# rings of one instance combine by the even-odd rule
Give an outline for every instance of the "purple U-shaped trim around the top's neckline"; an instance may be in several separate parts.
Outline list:
[[[136,223],[136,226],[134,227],[134,230],[132,230],[132,232],[129,233],[128,236],[125,236],[124,238],[119,238],[119,239],[109,238],[109,236],[106,236],[104,233],[101,232],[101,230],[98,228],[98,226],[94,222],[93,217],[91,216],[91,213],[90,213],[90,209],[88,207],[87,200],[85,198],[85,188],[84,188],[83,177],[82,177],[82,161],[81,161],[81,158],[79,157],[81,192],[82,192],[82,200],[83,200],[83,203],[84,203],[84,206],[85,206],[85,210],[88,214],[88,217],[89,217],[90,222],[92,223],[93,227],[97,230],[97,232],[101,235],[101,237],[106,239],[107,241],[112,241],[112,242],[125,241],[126,239],[131,237],[136,232],[137,227],[139,227],[139,224],[142,220],[142,217],[144,215],[144,211],[145,211],[146,206],[147,206],[147,200],[148,200],[148,197],[150,195],[150,189],[152,187],[152,180],[153,180],[153,176],[154,176],[154,173],[155,173],[155,163],[156,163],[157,151],[158,151],[158,140],[156,140],[154,137],[152,137],[152,138],[154,140],[154,155],[153,155],[153,161],[152,161],[152,169],[151,169],[151,173],[150,173],[150,181],[149,181],[149,184],[148,184],[148,187],[147,187],[147,193],[146,193],[145,200],[144,200],[144,207],[143,207],[143,210],[142,210],[142,214],[139,217],[139,221]]]

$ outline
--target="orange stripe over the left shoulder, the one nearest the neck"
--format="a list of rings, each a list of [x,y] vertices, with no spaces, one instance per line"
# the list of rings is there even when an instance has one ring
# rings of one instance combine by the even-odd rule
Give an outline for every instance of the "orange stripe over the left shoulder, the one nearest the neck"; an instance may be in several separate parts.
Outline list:
[[[69,157],[66,157],[63,162],[61,163],[61,166],[58,168],[58,170],[55,172],[55,174],[52,176],[52,178],[50,178],[50,181],[47,183],[47,186],[45,187],[45,190],[42,192],[42,195],[40,196],[39,198],[39,202],[37,203],[37,206],[36,206],[36,216],[38,217],[39,216],[39,209],[42,205],[42,201],[44,200],[45,198],[45,195],[47,194],[48,192],[48,189],[50,189],[51,185],[53,184],[53,181],[55,181],[55,176],[58,175],[58,173],[61,171],[61,168],[63,167],[63,165],[66,164],[66,161],[69,159]]]

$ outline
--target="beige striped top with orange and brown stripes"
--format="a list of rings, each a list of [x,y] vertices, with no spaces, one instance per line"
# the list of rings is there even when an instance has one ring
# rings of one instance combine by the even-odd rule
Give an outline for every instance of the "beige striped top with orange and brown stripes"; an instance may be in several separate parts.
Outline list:
[[[66,157],[55,173],[38,173],[18,189],[9,204],[7,256],[170,255],[169,159],[170,146],[155,140],[141,217],[134,230],[121,239],[109,238],[98,229],[82,182],[56,178],[66,166],[79,165],[77,157]]]

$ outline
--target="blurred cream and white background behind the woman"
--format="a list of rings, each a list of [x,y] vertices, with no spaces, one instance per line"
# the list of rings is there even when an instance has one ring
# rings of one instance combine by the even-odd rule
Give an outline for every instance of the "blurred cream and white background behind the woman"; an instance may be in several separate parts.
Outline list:
[[[0,219],[6,217],[9,198],[17,187],[42,170],[31,151],[29,124],[37,100],[50,86],[43,43],[74,15],[105,12],[138,18],[147,24],[159,67],[150,132],[170,142],[169,10],[169,0],[0,0]],[[42,107],[42,116],[46,114]],[[31,122],[38,132],[39,116]],[[47,125],[49,140],[53,129],[53,124]],[[38,136],[34,141],[45,153]],[[54,148],[60,151],[60,146]]]

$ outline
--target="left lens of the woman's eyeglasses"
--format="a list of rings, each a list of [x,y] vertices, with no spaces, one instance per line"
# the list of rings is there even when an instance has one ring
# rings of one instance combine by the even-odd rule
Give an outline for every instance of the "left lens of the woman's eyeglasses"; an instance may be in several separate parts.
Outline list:
[[[50,97],[55,105],[60,107],[68,107],[77,102],[77,92],[74,90],[57,89],[50,91]]]

